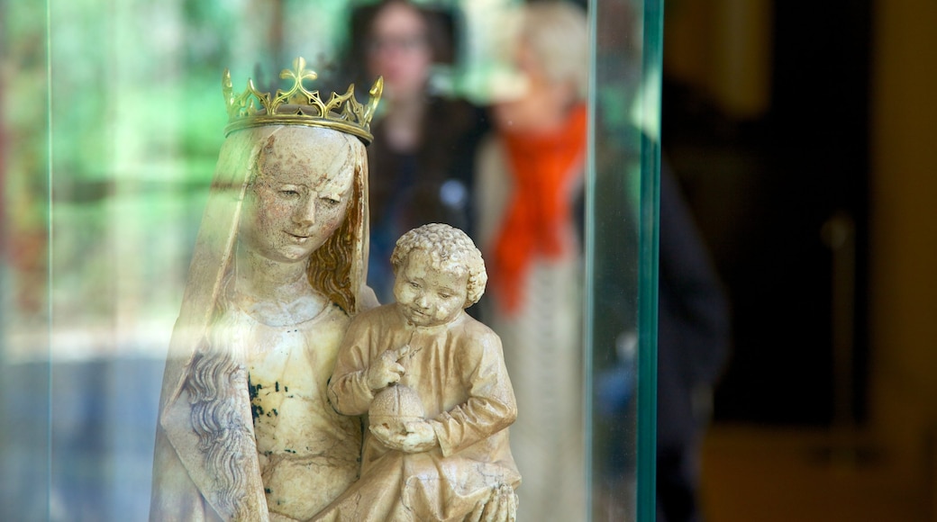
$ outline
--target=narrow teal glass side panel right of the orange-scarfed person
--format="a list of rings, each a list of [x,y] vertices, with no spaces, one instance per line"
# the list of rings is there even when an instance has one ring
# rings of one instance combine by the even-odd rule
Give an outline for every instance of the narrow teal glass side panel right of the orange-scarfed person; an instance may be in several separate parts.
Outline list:
[[[587,183],[590,514],[649,520],[654,499],[658,2],[596,2]],[[649,54],[648,54],[649,53]],[[660,60],[660,56],[656,57]],[[640,419],[640,420],[639,420]],[[638,429],[640,426],[640,430]],[[639,448],[639,443],[645,446]]]

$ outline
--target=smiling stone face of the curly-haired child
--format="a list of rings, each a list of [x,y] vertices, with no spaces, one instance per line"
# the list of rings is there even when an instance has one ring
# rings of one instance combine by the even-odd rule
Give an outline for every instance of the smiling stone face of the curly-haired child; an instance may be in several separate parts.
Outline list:
[[[407,320],[416,326],[444,325],[462,312],[468,295],[468,273],[432,268],[430,256],[414,250],[397,269],[394,297]]]

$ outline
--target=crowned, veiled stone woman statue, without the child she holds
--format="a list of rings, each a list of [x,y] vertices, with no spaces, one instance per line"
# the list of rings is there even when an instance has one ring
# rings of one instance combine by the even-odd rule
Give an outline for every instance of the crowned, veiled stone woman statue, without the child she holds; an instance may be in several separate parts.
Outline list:
[[[361,419],[326,386],[364,285],[368,105],[223,91],[230,123],[172,332],[152,520],[307,520],[355,483]]]

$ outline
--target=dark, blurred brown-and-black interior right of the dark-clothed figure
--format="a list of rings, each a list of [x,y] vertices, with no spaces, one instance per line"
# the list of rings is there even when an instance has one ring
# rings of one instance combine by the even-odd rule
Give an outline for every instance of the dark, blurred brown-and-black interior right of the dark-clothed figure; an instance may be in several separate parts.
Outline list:
[[[667,7],[663,150],[734,307],[706,509],[935,520],[937,5],[789,4]]]

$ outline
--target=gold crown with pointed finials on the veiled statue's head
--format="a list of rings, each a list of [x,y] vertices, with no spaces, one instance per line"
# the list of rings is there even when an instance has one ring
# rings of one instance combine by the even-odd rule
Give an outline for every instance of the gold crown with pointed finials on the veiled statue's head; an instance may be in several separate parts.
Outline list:
[[[306,125],[339,130],[361,138],[364,144],[371,143],[371,118],[378,108],[384,79],[379,78],[368,94],[371,99],[362,105],[354,97],[354,83],[345,94],[335,94],[328,102],[322,101],[319,91],[309,92],[303,80],[316,80],[319,75],[305,68],[305,59],[293,60],[292,69],[283,69],[280,78],[292,79],[290,90],[276,90],[276,94],[260,93],[254,80],[247,80],[244,93],[234,94],[231,90],[231,72],[225,69],[221,80],[221,92],[228,106],[228,125],[225,136],[238,129],[260,125]]]

